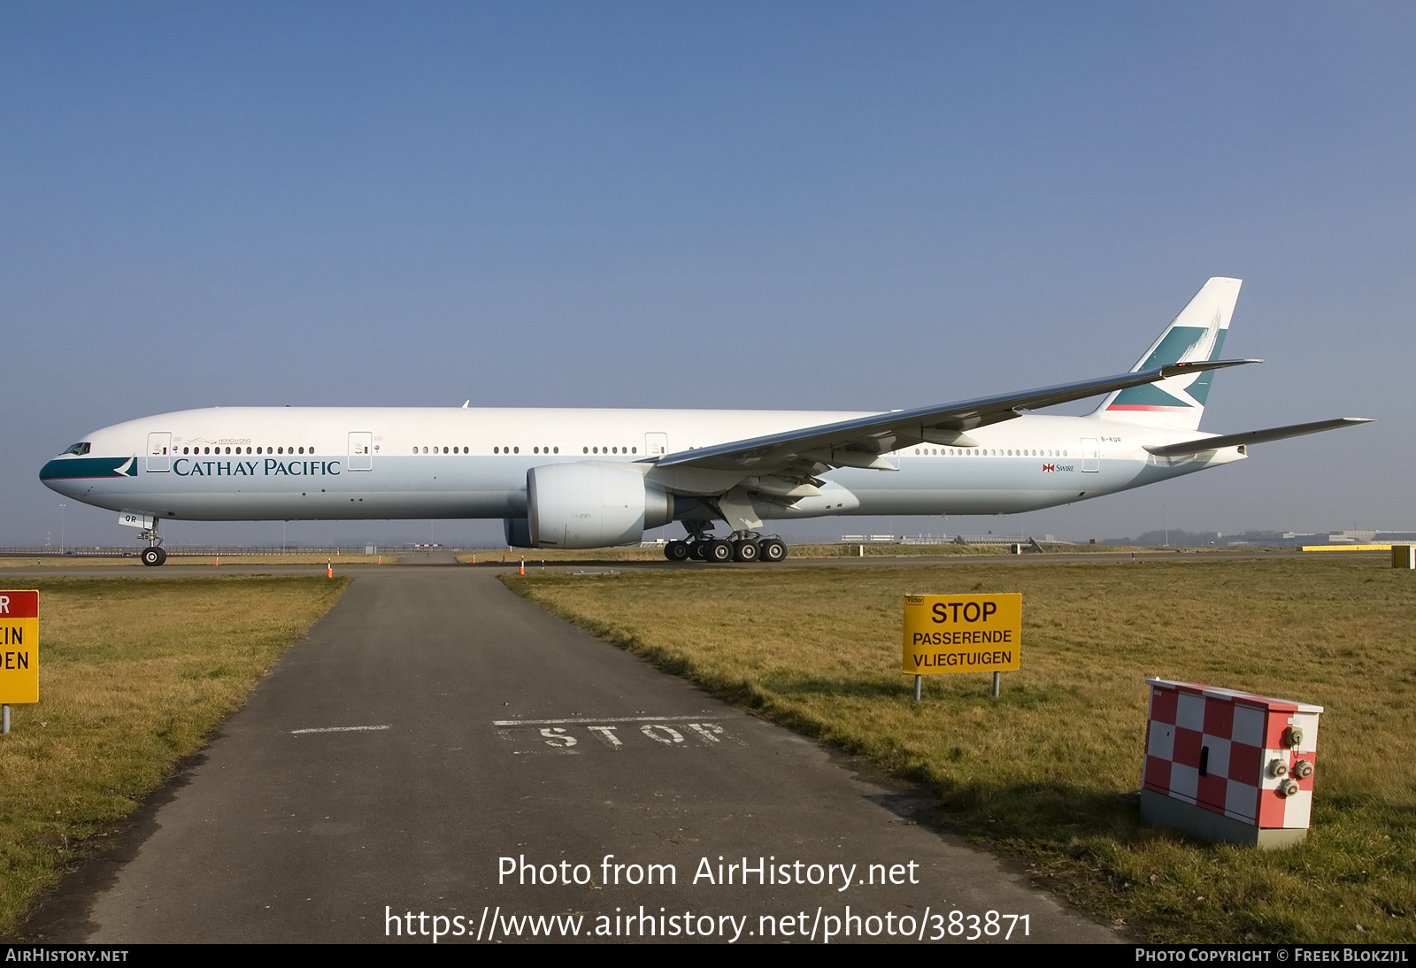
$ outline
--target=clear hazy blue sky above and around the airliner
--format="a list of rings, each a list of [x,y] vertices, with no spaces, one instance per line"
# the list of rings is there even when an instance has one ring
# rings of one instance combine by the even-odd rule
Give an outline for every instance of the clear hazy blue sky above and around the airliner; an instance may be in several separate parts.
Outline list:
[[[1413,41],[1406,4],[3,6],[0,545],[57,543],[38,467],[120,419],[913,406],[1126,369],[1214,275],[1269,362],[1205,429],[1381,423],[1022,526],[1416,528]],[[820,534],[878,526],[1018,522]]]

